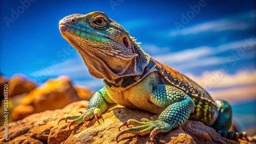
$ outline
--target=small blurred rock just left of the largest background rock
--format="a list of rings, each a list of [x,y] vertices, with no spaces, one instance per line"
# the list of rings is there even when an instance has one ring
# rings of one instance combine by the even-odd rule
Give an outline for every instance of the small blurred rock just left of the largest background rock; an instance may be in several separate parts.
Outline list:
[[[8,82],[9,98],[15,95],[28,93],[36,87],[25,75],[16,74]]]

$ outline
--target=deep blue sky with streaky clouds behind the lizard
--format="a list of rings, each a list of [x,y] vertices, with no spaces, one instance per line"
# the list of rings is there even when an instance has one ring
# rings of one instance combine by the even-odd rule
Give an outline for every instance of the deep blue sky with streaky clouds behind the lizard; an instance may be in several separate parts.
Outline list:
[[[58,22],[74,13],[105,12],[156,60],[188,75],[215,99],[255,101],[255,1],[1,1],[0,71],[38,85],[69,76],[97,90]],[[255,116],[254,116],[255,119]]]

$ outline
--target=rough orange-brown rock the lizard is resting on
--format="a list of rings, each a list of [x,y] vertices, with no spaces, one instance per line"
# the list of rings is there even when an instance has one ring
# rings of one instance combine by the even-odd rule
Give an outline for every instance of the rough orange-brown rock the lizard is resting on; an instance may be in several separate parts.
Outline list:
[[[47,110],[32,114],[20,121],[9,123],[8,140],[4,141],[5,127],[0,127],[0,143],[117,143],[118,127],[130,118],[150,118],[152,113],[115,108],[102,114],[98,123],[95,118],[85,124],[72,126],[61,121],[65,115],[75,115],[85,111],[88,101],[74,102],[63,109]],[[124,128],[122,128],[124,129]],[[238,143],[221,137],[201,122],[188,121],[183,126],[167,133],[159,133],[151,141],[149,135],[124,134],[119,143]],[[249,143],[243,141],[243,143]]]

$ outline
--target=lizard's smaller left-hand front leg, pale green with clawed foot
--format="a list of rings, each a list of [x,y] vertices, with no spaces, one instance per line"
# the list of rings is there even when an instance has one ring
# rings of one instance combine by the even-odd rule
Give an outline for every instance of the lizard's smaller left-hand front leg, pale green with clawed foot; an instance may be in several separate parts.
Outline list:
[[[80,115],[66,116],[65,118],[61,118],[59,120],[59,122],[64,119],[66,120],[66,122],[68,119],[72,119],[73,121],[71,121],[69,123],[69,129],[70,129],[71,126],[81,124],[82,122],[87,125],[86,121],[93,118],[94,116],[95,116],[96,121],[98,121],[98,117],[103,112],[105,112],[106,110],[109,109],[108,102],[114,103],[109,98],[108,94],[106,94],[105,87],[103,87],[94,93],[93,97],[89,101],[86,112],[83,112]],[[58,124],[59,124],[59,122],[58,122]]]

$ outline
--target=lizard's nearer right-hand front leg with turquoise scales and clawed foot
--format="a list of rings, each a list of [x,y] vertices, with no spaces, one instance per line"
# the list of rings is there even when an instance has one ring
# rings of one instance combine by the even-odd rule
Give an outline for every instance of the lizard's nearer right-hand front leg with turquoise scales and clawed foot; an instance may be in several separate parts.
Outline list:
[[[153,140],[153,137],[157,133],[168,132],[173,128],[183,125],[195,107],[195,103],[185,92],[170,85],[156,85],[153,88],[150,101],[159,107],[165,108],[158,119],[156,121],[150,121],[146,118],[142,118],[141,121],[129,119],[119,129],[123,126],[128,127],[130,125],[135,127],[130,127],[119,132],[116,140],[124,133],[140,135],[151,133],[150,139]]]

